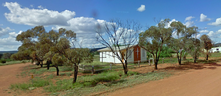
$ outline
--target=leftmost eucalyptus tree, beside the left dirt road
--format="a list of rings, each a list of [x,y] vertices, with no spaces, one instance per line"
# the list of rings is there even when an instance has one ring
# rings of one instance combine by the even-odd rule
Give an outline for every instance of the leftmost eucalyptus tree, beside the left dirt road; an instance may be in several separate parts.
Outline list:
[[[16,41],[22,42],[22,45],[18,48],[18,53],[12,55],[12,58],[19,60],[31,58],[32,61],[36,60],[37,62],[41,62],[42,67],[43,60],[38,58],[38,56],[34,53],[36,53],[36,44],[38,42],[38,38],[44,33],[46,33],[46,31],[43,26],[36,26],[19,34],[16,37]]]

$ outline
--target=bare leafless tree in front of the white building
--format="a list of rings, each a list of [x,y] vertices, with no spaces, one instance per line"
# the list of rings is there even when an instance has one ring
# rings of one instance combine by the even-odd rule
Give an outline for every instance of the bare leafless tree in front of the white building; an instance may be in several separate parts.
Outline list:
[[[97,41],[109,48],[112,54],[120,60],[124,74],[128,72],[127,59],[133,52],[133,50],[129,51],[129,48],[137,44],[140,29],[137,22],[130,20],[126,22],[111,20],[97,26]],[[125,49],[126,53],[123,53],[122,49]]]

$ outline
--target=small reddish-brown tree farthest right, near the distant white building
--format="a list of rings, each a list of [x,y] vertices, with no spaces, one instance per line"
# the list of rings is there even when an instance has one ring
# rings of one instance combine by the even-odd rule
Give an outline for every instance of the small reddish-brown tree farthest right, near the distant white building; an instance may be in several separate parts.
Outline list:
[[[206,50],[206,52],[204,52],[204,50],[203,50],[203,53],[206,55],[206,60],[208,60],[209,54],[210,54],[209,50],[213,46],[212,40],[209,38],[208,35],[205,35],[205,34],[200,37],[200,40],[201,40],[202,48]]]

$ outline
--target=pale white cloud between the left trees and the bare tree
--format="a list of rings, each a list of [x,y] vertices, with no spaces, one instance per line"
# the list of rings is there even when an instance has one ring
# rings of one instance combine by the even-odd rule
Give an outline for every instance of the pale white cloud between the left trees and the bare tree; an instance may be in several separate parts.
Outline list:
[[[58,30],[59,28],[65,28],[67,30],[73,30],[78,39],[78,43],[82,43],[82,47],[98,47],[101,46],[96,40],[96,27],[97,24],[106,23],[105,20],[99,20],[88,17],[76,17],[72,18],[68,22],[69,26],[56,26],[52,29]]]

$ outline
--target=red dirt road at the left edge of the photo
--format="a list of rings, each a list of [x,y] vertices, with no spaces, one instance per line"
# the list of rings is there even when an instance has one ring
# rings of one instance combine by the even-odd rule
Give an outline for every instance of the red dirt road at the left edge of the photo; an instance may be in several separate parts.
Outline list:
[[[28,81],[27,78],[21,78],[18,76],[22,72],[22,69],[28,65],[30,64],[25,63],[0,66],[0,96],[10,95],[8,88],[11,84]]]

